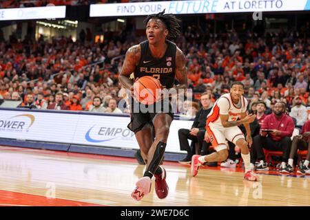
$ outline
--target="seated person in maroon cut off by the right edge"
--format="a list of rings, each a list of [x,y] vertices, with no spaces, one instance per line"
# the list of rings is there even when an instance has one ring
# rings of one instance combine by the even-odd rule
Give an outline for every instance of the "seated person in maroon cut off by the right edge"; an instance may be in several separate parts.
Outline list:
[[[282,170],[282,173],[292,173],[293,172],[293,158],[296,156],[297,150],[308,151],[307,157],[303,164],[300,164],[300,168],[297,173],[302,175],[310,174],[309,161],[310,161],[310,120],[304,123],[302,126],[302,132],[300,135],[293,137],[291,143],[291,152],[289,153],[289,161],[287,162],[287,167]]]

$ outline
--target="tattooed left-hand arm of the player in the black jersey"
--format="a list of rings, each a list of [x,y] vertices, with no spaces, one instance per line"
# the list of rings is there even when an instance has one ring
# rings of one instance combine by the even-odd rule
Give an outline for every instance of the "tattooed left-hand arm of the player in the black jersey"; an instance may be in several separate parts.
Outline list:
[[[121,85],[126,89],[132,89],[133,81],[130,79],[130,75],[134,72],[134,69],[136,69],[140,58],[140,45],[134,45],[127,50],[121,73],[118,76],[118,80],[120,81]]]

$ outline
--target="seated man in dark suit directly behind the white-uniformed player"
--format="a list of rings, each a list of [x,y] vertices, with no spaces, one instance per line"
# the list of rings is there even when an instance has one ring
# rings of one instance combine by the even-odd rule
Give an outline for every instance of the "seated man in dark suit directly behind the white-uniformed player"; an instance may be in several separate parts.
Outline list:
[[[211,111],[213,103],[211,102],[211,96],[204,93],[200,96],[200,102],[202,107],[196,114],[194,123],[192,124],[192,129],[179,129],[178,130],[178,140],[180,142],[180,150],[187,151],[185,158],[181,159],[180,163],[189,163],[192,160],[192,155],[200,154],[203,147],[204,137],[205,137],[205,123],[207,121],[207,115]],[[195,143],[194,148],[189,147],[188,139]],[[197,143],[197,146],[196,146]]]

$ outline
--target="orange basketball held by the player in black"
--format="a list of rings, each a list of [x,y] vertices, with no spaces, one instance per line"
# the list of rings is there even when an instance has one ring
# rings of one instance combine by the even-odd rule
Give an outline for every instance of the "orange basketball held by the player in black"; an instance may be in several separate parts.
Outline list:
[[[152,76],[143,76],[134,83],[134,98],[142,104],[153,104],[161,94],[161,83]]]

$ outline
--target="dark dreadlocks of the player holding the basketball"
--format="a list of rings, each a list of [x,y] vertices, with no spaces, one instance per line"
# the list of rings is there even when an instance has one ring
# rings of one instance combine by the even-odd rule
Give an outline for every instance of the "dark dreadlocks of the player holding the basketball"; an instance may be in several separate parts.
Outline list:
[[[176,38],[180,35],[180,20],[177,19],[173,14],[164,14],[163,12],[159,12],[158,14],[149,14],[147,18],[143,21],[145,25],[149,22],[150,19],[160,19],[166,25],[166,28],[169,32],[167,39],[168,40],[176,40]]]

